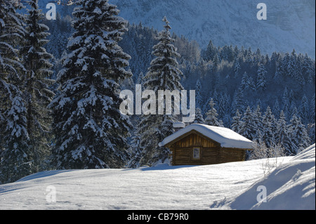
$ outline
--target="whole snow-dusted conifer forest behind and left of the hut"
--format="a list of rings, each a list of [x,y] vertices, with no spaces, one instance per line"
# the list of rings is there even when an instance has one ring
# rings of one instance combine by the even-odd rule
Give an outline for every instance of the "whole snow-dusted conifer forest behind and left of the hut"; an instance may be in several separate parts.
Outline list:
[[[309,55],[216,46],[211,37],[201,48],[167,18],[157,30],[129,23],[107,0],[78,3],[72,16],[70,6],[46,20],[37,0],[28,11],[0,0],[0,183],[47,169],[167,162],[158,143],[180,117],[123,116],[119,92],[136,84],[195,90],[195,123],[287,155],[315,143]]]

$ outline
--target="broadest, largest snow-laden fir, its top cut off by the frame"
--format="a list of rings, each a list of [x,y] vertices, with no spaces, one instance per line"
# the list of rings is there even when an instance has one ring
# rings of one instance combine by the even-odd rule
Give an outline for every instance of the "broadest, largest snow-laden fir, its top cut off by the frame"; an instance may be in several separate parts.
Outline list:
[[[119,111],[119,84],[131,72],[130,56],[117,44],[126,20],[107,0],[80,0],[72,15],[75,32],[58,74],[58,96],[51,103],[58,169],[122,167],[129,117]]]

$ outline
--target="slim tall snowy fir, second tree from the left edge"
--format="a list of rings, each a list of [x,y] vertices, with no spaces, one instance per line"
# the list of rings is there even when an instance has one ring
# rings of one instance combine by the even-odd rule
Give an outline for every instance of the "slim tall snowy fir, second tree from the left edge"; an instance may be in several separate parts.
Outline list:
[[[49,28],[40,22],[44,19],[44,13],[39,9],[38,0],[28,3],[31,9],[25,16],[26,32],[21,48],[22,63],[27,70],[23,95],[27,107],[29,147],[33,156],[32,169],[37,172],[50,153],[51,114],[47,107],[54,96],[50,90],[53,80],[48,79],[53,74],[50,62],[53,55],[46,52]]]

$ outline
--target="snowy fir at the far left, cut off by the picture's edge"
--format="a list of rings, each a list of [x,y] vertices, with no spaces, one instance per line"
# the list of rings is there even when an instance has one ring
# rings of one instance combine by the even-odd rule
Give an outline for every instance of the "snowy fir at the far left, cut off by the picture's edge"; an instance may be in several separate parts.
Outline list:
[[[18,51],[25,29],[15,6],[13,1],[0,0],[0,183],[13,182],[31,172],[22,98],[26,71]]]

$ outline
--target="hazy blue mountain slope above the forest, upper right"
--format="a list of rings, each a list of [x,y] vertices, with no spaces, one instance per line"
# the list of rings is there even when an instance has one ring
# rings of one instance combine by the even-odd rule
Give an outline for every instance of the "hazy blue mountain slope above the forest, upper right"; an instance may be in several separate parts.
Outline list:
[[[212,39],[230,45],[273,51],[308,53],[315,57],[315,2],[267,0],[268,20],[257,20],[256,1],[112,0],[130,23],[162,29],[167,16],[172,31],[196,40],[202,47]]]

